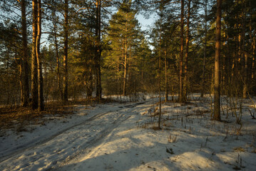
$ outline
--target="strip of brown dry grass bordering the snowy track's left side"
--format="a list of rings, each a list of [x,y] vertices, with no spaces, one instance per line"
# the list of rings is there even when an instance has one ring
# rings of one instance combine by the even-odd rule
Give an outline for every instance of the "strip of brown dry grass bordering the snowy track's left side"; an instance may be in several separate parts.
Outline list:
[[[24,108],[21,106],[5,106],[0,108],[0,130],[16,128],[18,132],[26,131],[26,125],[43,125],[43,117],[52,116],[66,116],[73,114],[75,105],[95,105],[96,103],[110,103],[113,100],[101,99],[100,102],[96,98],[80,99],[76,101],[69,101],[65,105],[62,101],[53,101],[46,103],[46,108],[43,111],[31,110],[31,108]]]

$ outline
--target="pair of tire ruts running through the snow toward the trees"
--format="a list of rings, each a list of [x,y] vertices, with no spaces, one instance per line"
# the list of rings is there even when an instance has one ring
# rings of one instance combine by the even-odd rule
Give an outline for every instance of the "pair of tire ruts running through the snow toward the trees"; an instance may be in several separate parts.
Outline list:
[[[91,118],[88,118],[87,120],[84,120],[81,123],[78,123],[76,125],[72,125],[64,130],[58,131],[58,133],[51,135],[51,137],[46,138],[44,140],[41,140],[40,142],[36,142],[34,143],[34,145],[21,145],[20,147],[17,147],[17,150],[14,152],[9,153],[8,155],[6,155],[5,157],[1,157],[0,159],[0,163],[5,162],[6,160],[11,159],[12,157],[14,158],[14,160],[17,158],[17,156],[21,156],[23,155],[23,153],[25,154],[26,152],[29,152],[29,150],[33,150],[36,148],[40,148],[41,145],[46,144],[47,142],[50,142],[51,140],[54,140],[54,138],[58,137],[59,135],[62,135],[64,133],[67,133],[68,130],[72,130],[73,128],[76,128],[78,126],[85,126],[85,127],[90,127],[90,124],[93,123],[93,121],[95,120],[101,120],[101,118],[105,115],[111,114],[113,113],[113,115],[116,115],[116,113],[120,112],[121,110],[127,109],[127,108],[134,108],[137,105],[146,103],[147,101],[144,101],[142,103],[134,103],[132,105],[125,105],[123,106],[121,109],[118,110],[111,110],[108,111],[106,113],[98,113],[96,115],[93,115]],[[122,114],[118,116],[118,118],[115,118],[115,120],[113,122],[110,123],[110,126],[103,128],[103,130],[101,130],[99,133],[96,134],[96,136],[93,136],[92,140],[88,140],[85,143],[83,143],[83,145],[81,145],[79,147],[78,150],[76,150],[76,152],[73,152],[73,154],[69,154],[68,157],[66,157],[66,155],[64,155],[64,158],[58,158],[58,160],[53,161],[52,165],[50,166],[50,170],[54,165],[58,165],[58,163],[63,164],[66,163],[70,160],[73,160],[74,158],[78,157],[81,154],[84,154],[84,152],[86,152],[86,150],[88,150],[89,147],[93,147],[96,142],[100,142],[103,138],[105,138],[109,133],[111,133],[111,131],[113,129],[115,129],[116,127],[118,127],[118,125],[120,125],[123,121],[127,120],[128,118],[130,118],[130,115],[128,115],[128,117],[123,118],[125,115],[127,115],[126,111],[121,112]],[[67,133],[68,134],[68,133]],[[64,134],[65,135],[65,134]],[[71,138],[72,140],[68,140],[68,142],[70,144],[72,144],[73,142],[76,141],[76,138]],[[58,140],[58,139],[57,139]],[[28,147],[29,146],[29,147]],[[81,150],[82,149],[82,150]],[[66,150],[65,147],[62,150]]]

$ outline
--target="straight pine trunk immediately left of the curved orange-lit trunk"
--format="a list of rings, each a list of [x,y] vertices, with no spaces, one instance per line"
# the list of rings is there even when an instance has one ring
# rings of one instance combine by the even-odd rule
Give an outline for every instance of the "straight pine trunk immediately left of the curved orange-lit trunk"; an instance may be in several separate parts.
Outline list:
[[[31,58],[31,108],[36,109],[39,107],[39,87],[38,87],[38,73],[37,73],[37,60],[36,60],[36,36],[37,36],[37,0],[32,1],[32,58]]]

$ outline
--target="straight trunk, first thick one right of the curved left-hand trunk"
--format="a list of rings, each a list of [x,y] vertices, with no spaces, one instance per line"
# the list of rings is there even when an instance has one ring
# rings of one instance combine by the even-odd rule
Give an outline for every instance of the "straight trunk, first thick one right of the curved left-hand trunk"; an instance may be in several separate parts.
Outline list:
[[[68,0],[64,3],[63,102],[68,102]]]

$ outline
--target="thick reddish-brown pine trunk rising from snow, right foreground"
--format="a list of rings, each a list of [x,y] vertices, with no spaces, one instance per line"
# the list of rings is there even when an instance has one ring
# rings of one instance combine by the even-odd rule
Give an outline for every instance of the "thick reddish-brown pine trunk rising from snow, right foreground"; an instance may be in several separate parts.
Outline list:
[[[215,79],[214,79],[214,115],[213,120],[220,120],[220,33],[221,33],[221,2],[217,0],[216,42],[215,42]]]

